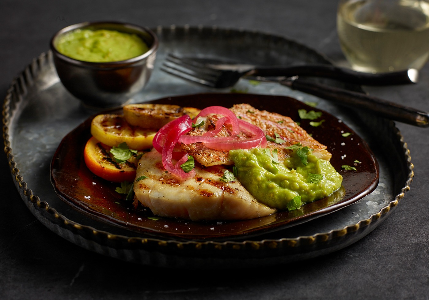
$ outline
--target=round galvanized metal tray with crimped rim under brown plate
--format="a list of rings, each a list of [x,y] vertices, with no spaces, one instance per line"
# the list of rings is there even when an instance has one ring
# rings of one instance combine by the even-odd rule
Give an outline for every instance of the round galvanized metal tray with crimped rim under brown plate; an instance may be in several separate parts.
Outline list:
[[[160,48],[154,73],[147,87],[132,102],[208,92],[160,72],[168,52],[198,53],[266,65],[330,63],[323,55],[299,43],[264,33],[215,27],[160,27],[155,33],[160,38]],[[356,86],[320,81],[359,90]],[[242,80],[235,90],[317,102],[317,108],[347,124],[375,153],[380,166],[380,181],[375,191],[329,215],[239,241],[175,240],[136,234],[88,218],[58,198],[50,182],[49,166],[62,138],[94,111],[83,108],[66,92],[49,52],[33,60],[12,82],[3,105],[5,152],[18,191],[40,222],[85,249],[153,266],[229,268],[287,263],[342,249],[375,229],[409,190],[413,165],[393,122],[343,109],[278,84]]]

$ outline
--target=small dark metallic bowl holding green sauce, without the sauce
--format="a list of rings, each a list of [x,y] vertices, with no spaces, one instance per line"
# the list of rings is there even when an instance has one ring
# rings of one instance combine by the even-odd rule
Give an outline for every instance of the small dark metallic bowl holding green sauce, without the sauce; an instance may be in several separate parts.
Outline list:
[[[76,60],[58,52],[60,36],[77,29],[116,30],[139,36],[149,50],[127,60],[94,63]],[[120,107],[147,84],[158,49],[157,36],[148,28],[122,22],[83,22],[65,27],[54,34],[50,48],[58,77],[66,89],[85,107],[104,109]]]

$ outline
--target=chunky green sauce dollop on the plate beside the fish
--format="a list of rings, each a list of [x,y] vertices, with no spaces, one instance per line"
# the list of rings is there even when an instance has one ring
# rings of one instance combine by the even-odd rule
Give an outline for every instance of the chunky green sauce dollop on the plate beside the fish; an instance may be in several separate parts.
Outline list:
[[[229,152],[236,177],[258,201],[281,210],[299,209],[341,187],[342,176],[331,163],[307,147],[293,150],[284,162],[276,154],[262,148]]]

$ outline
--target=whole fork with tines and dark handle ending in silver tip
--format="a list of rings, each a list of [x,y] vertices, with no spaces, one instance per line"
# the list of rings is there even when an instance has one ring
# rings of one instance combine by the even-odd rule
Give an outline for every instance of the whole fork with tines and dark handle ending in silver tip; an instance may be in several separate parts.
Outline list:
[[[395,85],[416,83],[418,71],[409,69],[389,73],[364,73],[331,65],[253,66],[230,64],[199,57],[179,57],[168,54],[161,68],[164,72],[211,88],[233,87],[240,78],[315,76],[362,85]]]

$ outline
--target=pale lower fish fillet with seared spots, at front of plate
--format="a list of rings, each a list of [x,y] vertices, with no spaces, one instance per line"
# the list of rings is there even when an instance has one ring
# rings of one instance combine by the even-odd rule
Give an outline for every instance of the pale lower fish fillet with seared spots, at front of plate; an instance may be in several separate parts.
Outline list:
[[[152,149],[140,159],[134,183],[136,199],[158,216],[192,221],[244,220],[276,210],[258,202],[240,183],[219,180],[225,168],[195,167],[196,176],[178,180],[165,171],[161,154]]]

